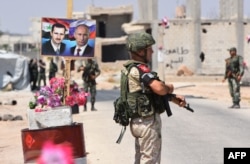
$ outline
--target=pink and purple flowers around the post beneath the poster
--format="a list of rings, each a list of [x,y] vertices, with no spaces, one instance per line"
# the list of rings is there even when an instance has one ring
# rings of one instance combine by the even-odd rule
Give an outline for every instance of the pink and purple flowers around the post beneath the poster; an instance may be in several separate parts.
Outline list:
[[[75,81],[70,84],[70,94],[65,98],[63,104],[63,92],[65,88],[64,78],[52,78],[49,81],[49,86],[41,87],[34,95],[34,101],[29,102],[30,109],[42,111],[44,108],[54,108],[58,106],[75,104],[85,105],[86,97],[89,95],[85,93],[82,88],[79,88]]]

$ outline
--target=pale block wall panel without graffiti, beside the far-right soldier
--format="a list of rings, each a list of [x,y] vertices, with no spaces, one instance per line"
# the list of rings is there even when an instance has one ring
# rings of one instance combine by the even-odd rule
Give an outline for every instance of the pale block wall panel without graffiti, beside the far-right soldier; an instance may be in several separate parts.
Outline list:
[[[201,51],[205,54],[201,73],[223,74],[225,58],[229,57],[227,49],[237,47],[236,25],[234,22],[212,22],[202,28],[207,33],[201,34]]]

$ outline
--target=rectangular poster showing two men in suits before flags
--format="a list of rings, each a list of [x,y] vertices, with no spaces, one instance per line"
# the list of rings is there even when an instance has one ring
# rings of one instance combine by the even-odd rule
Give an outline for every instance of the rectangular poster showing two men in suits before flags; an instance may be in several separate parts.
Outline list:
[[[94,57],[96,22],[42,18],[42,55]]]

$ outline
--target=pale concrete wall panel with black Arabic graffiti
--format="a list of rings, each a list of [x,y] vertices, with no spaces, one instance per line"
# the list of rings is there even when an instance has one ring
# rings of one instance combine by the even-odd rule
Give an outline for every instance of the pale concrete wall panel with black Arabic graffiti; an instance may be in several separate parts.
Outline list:
[[[160,27],[162,28],[162,27]],[[166,73],[175,73],[182,64],[195,70],[194,24],[191,21],[175,21],[164,30],[164,63],[169,65]]]

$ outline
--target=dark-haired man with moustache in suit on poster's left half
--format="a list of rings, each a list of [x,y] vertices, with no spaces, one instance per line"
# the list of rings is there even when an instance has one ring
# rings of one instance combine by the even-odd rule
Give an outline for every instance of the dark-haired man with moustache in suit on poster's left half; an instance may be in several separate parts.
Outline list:
[[[60,23],[55,23],[52,26],[50,36],[51,39],[42,45],[43,55],[59,55],[63,54],[66,45],[62,43],[66,33],[66,27]]]

